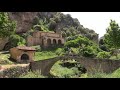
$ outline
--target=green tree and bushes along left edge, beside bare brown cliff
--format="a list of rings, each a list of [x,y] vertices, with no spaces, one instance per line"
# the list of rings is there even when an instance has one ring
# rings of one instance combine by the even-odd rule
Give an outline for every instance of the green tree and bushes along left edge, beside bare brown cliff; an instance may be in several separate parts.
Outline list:
[[[9,19],[7,12],[0,12],[0,37],[9,37],[9,42],[4,50],[9,50],[17,45],[25,45],[26,41],[21,36],[15,33],[16,22]]]

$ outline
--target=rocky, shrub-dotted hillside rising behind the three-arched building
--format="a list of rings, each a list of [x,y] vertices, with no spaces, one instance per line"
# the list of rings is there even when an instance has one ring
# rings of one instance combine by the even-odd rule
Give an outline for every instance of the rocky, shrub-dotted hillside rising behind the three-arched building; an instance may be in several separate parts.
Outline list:
[[[45,30],[61,32],[64,37],[82,34],[98,42],[98,34],[94,30],[83,27],[78,19],[61,12],[8,12],[11,20],[17,22],[17,33],[25,33],[33,26],[40,25]],[[39,30],[41,29],[39,28]]]

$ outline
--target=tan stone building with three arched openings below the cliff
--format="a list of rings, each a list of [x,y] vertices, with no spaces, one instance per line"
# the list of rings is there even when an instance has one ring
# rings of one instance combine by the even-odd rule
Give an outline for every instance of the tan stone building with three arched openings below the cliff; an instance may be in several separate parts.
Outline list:
[[[62,38],[62,35],[54,32],[36,31],[33,32],[32,36],[27,37],[28,46],[41,45],[46,48],[49,46],[63,45],[64,42],[65,39]]]

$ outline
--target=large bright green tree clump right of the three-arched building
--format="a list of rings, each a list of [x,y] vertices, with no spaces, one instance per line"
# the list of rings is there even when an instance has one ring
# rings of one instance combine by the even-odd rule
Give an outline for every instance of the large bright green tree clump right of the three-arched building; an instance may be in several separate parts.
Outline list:
[[[73,53],[84,57],[96,57],[102,51],[96,43],[84,36],[69,37],[64,45],[64,50],[69,51],[70,48],[77,48],[76,51],[72,50]]]

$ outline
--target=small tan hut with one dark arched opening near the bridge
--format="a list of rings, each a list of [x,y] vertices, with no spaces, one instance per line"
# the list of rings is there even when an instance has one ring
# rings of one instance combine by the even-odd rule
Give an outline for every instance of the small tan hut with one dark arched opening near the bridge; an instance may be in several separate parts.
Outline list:
[[[19,63],[34,61],[35,49],[27,46],[18,46],[10,49],[10,58]]]

